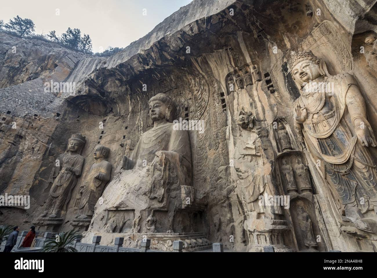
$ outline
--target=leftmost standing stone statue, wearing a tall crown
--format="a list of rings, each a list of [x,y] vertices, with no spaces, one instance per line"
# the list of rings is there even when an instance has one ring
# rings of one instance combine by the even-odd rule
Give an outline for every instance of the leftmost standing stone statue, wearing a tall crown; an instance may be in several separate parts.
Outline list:
[[[72,189],[77,184],[77,178],[81,175],[84,157],[80,155],[85,144],[85,137],[80,133],[73,134],[67,145],[66,152],[60,154],[52,170],[52,178],[55,178],[50,189],[41,218],[58,218],[65,213],[67,202],[70,200]]]

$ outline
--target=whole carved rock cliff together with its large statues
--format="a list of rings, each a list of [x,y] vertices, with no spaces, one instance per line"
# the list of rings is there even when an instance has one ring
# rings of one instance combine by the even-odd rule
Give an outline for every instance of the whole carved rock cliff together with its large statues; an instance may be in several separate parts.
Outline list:
[[[211,242],[237,251],[375,251],[374,10],[375,1],[194,0],[109,58],[63,53],[64,70],[30,81],[4,74],[0,193],[30,195],[31,207],[0,208],[0,221],[74,228],[83,242],[101,235],[102,244],[123,236],[137,246],[147,235],[161,250],[182,239],[191,251]],[[295,69],[305,62],[333,94],[303,91],[305,74]],[[76,91],[46,93],[49,79],[75,81]],[[169,110],[161,119],[150,112],[156,101]],[[316,101],[313,113],[308,103]],[[171,147],[175,119],[201,124],[180,126],[177,142],[189,151]],[[360,119],[367,133],[354,126]],[[154,158],[138,165],[143,150]],[[63,181],[67,167],[77,171]],[[109,177],[97,181],[96,171]],[[94,182],[100,189],[87,201]],[[67,195],[52,189],[61,184]]]

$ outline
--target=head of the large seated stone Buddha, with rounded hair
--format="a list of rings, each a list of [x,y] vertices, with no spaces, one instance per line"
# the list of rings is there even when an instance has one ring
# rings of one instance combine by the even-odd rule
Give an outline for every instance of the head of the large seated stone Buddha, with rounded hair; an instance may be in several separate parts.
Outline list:
[[[159,120],[173,122],[175,110],[175,102],[164,93],[156,94],[149,100],[149,117],[153,122]]]

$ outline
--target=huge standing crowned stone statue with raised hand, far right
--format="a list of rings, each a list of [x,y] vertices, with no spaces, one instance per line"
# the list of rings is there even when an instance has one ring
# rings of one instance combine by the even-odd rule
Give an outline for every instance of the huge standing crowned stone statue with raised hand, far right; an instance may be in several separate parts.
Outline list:
[[[295,126],[302,130],[314,161],[320,159],[317,167],[345,216],[360,218],[377,205],[377,173],[368,150],[376,141],[364,98],[350,74],[331,76],[311,51],[293,53],[289,63],[301,94],[294,103]],[[307,88],[310,80],[333,83],[334,91],[313,92]]]

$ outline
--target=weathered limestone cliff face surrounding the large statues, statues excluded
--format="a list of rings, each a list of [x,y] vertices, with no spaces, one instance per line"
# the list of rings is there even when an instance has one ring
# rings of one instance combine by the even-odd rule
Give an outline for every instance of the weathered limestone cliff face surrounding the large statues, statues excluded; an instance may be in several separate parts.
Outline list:
[[[177,212],[174,232],[197,232],[201,241],[223,242],[234,250],[262,251],[267,245],[279,252],[375,250],[374,228],[360,230],[344,218],[300,140],[293,121],[300,93],[288,69],[291,51],[311,50],[329,74],[352,74],[376,131],[376,59],[368,56],[373,45],[365,43],[366,37],[377,36],[374,10],[375,1],[194,0],[120,53],[104,58],[0,36],[6,49],[0,51],[5,53],[0,71],[0,174],[5,178],[0,193],[32,199],[28,210],[1,208],[0,220],[23,228],[34,221],[49,195],[55,159],[70,135],[80,132],[86,136],[82,175],[63,224],[53,227],[72,229],[95,145],[110,148],[114,173],[153,126],[148,100],[165,93],[179,104],[177,117],[204,122],[204,132],[189,131],[193,204]],[[18,44],[30,50],[12,57],[11,46]],[[77,90],[46,93],[43,84],[49,79],[77,82]],[[247,125],[239,122],[241,117]],[[376,158],[375,149],[369,149]],[[261,205],[259,196],[290,196],[290,206]],[[135,232],[135,210],[127,206],[96,213],[101,221],[90,225],[83,241],[102,235],[103,243],[111,244],[124,236],[137,244],[150,216],[147,210],[140,212],[141,229]],[[368,213],[368,219],[375,217]],[[156,211],[155,217],[157,231],[166,231],[166,212]],[[167,238],[153,236],[155,248],[169,250]],[[186,242],[193,250],[203,246]]]

